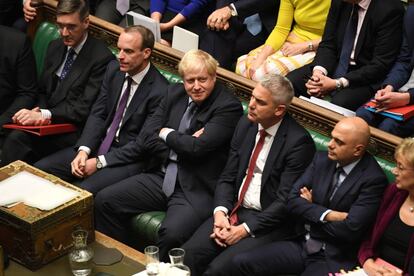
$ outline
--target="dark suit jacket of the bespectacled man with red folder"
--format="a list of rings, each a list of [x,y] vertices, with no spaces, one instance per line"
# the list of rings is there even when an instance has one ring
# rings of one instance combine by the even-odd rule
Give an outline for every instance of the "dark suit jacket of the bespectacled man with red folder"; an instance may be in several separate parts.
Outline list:
[[[68,75],[59,83],[56,71],[66,50],[62,39],[49,44],[39,81],[39,106],[50,110],[54,123],[73,123],[82,128],[98,95],[106,65],[115,56],[103,42],[88,35]]]

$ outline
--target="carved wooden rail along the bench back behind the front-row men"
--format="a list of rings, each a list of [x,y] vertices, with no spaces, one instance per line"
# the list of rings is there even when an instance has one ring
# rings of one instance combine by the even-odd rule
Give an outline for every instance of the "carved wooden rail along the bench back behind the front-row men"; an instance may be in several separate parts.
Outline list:
[[[32,3],[35,0],[32,0]],[[37,26],[47,20],[55,22],[55,0],[37,0],[37,17],[29,24],[28,35],[33,39]],[[90,16],[89,33],[105,41],[108,45],[116,47],[118,36],[122,28],[105,20]],[[183,53],[175,49],[156,43],[152,62],[160,69],[178,75],[177,64]],[[250,99],[255,82],[241,77],[231,71],[219,68],[217,77],[223,81],[242,101]],[[343,117],[335,112],[317,107],[304,100],[294,98],[290,107],[290,114],[305,128],[314,130],[329,136],[334,125]],[[370,152],[385,160],[395,162],[394,149],[401,142],[401,138],[383,132],[377,128],[371,128]]]

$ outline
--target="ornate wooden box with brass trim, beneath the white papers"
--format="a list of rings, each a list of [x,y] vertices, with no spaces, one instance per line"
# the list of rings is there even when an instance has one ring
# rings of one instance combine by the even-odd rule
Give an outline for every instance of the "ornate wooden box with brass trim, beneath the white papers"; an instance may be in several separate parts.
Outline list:
[[[75,229],[87,230],[88,242],[95,239],[91,193],[22,161],[0,168],[0,181],[21,171],[76,190],[80,195],[51,211],[41,211],[23,203],[11,208],[0,207],[0,244],[13,260],[36,270],[70,250],[71,233]]]

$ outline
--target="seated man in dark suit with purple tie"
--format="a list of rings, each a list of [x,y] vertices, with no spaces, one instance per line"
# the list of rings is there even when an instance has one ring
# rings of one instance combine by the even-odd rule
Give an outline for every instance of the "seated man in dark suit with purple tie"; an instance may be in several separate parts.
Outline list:
[[[153,48],[154,35],[145,27],[128,27],[121,33],[119,62],[109,63],[80,139],[74,147],[38,161],[36,167],[67,181],[84,178],[80,187],[94,195],[140,172],[143,162],[114,165],[107,156],[135,142],[165,95],[168,81],[150,62]],[[129,79],[132,82],[127,90]]]

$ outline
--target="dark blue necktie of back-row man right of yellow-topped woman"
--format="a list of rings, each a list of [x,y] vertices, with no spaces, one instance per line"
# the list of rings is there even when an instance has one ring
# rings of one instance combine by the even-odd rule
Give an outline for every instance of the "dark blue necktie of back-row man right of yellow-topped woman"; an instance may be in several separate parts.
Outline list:
[[[358,4],[354,4],[348,24],[346,25],[341,55],[339,57],[338,66],[336,67],[333,75],[334,78],[343,77],[348,72],[349,61],[351,59],[352,49],[354,48],[358,26],[358,9]]]

